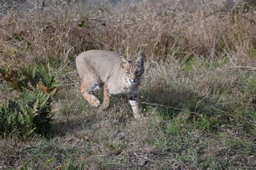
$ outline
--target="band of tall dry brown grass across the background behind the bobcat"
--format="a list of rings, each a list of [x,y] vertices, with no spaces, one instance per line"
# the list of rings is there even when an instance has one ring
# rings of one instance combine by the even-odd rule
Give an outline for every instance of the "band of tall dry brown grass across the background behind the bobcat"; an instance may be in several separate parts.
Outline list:
[[[124,55],[145,51],[154,60],[231,55],[241,65],[254,54],[255,14],[248,6],[228,10],[223,2],[174,6],[149,1],[82,12],[75,3],[31,4],[22,11],[12,6],[0,15],[4,60],[68,62],[86,49],[99,48]]]

